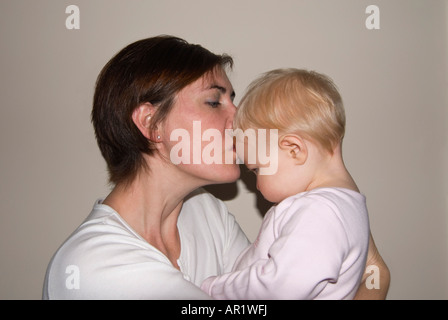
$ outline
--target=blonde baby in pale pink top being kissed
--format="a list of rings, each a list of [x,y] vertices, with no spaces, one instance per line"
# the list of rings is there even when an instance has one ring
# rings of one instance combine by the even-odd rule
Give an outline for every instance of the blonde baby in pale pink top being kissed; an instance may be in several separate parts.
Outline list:
[[[249,86],[235,127],[278,129],[275,173],[261,174],[268,164],[243,156],[276,205],[232,272],[206,279],[202,289],[216,299],[352,299],[369,220],[342,159],[345,112],[333,81],[306,70],[268,72]]]

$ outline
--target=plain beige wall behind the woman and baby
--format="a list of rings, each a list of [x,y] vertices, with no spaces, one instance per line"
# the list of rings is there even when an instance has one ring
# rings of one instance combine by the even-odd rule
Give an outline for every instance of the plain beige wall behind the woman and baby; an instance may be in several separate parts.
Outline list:
[[[70,4],[79,30],[65,27]],[[370,4],[380,30],[365,27]],[[40,299],[52,254],[107,194],[89,118],[95,78],[126,44],[158,34],[231,54],[237,101],[269,69],[330,75],[389,298],[447,299],[447,17],[443,0],[1,0],[0,299]],[[214,191],[254,239],[266,204],[244,181]]]

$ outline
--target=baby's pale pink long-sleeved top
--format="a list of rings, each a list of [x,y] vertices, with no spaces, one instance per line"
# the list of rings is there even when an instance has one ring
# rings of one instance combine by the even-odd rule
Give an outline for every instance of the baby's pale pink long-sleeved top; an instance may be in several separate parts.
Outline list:
[[[231,273],[202,289],[218,299],[352,299],[369,244],[365,197],[322,188],[272,207]]]

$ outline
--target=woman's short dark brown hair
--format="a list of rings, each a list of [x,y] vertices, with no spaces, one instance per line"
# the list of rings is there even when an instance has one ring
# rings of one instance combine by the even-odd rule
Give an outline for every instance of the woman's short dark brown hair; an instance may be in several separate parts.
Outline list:
[[[132,181],[146,166],[143,154],[155,148],[132,120],[143,103],[157,107],[152,125],[163,121],[176,94],[216,67],[232,67],[228,55],[172,36],[134,42],[118,52],[100,72],[93,98],[92,123],[109,182]]]

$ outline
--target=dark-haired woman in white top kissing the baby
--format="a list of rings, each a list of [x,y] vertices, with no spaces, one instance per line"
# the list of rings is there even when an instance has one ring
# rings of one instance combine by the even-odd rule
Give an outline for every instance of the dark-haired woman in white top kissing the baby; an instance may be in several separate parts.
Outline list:
[[[54,255],[45,299],[209,298],[198,286],[230,271],[249,244],[225,205],[198,189],[239,177],[226,161],[229,153],[235,160],[225,134],[235,113],[225,72],[232,63],[160,36],[130,44],[103,68],[92,122],[114,187]],[[221,133],[214,152],[222,161],[205,164],[197,156],[207,144],[197,138],[209,129]],[[193,152],[178,148],[179,132]],[[370,257],[387,274],[376,254],[372,246]],[[361,286],[359,297],[383,298],[387,285]]]

